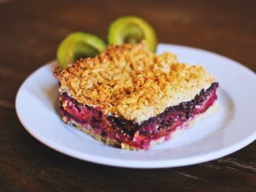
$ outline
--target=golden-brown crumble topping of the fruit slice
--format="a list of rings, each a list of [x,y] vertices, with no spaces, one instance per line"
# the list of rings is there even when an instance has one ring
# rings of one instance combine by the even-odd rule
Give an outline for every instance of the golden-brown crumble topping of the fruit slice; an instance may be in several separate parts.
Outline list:
[[[166,52],[154,55],[144,44],[109,46],[67,69],[55,67],[54,74],[61,92],[137,123],[194,99],[215,81],[203,67],[179,63]]]

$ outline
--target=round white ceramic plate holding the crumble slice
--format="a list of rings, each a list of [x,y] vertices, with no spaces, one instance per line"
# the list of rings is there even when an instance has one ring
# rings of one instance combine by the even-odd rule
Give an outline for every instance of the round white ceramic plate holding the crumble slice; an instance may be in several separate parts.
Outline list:
[[[171,51],[179,61],[200,64],[218,78],[217,113],[201,120],[167,143],[148,151],[129,151],[97,142],[65,125],[57,111],[55,62],[40,67],[20,86],[16,112],[33,137],[55,150],[94,163],[158,168],[188,166],[215,160],[252,143],[256,138],[256,75],[236,61],[202,49],[160,44],[158,53]]]

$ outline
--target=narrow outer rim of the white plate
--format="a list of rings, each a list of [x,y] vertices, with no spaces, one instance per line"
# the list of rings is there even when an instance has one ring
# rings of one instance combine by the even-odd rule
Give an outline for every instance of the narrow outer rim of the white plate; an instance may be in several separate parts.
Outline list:
[[[208,51],[208,50],[205,50],[205,49],[199,49],[199,48],[184,46],[184,45],[179,45],[179,44],[158,44],[158,46],[163,46],[163,45],[164,46],[175,46],[175,47],[181,48],[181,49],[183,49],[183,48],[185,48],[185,49],[195,49],[197,51],[201,51],[201,52],[204,52],[204,53],[207,53],[207,54],[216,55],[218,57],[221,57],[221,58],[224,58],[226,60],[229,60],[229,61],[233,62],[232,64],[236,64],[237,66],[242,67],[243,69],[247,70],[247,72],[252,73],[252,75],[256,79],[256,75],[251,69],[243,66],[238,61],[230,59],[230,58],[228,58],[224,55],[219,55],[218,53],[214,53],[212,51]],[[68,156],[77,158],[79,160],[86,160],[86,161],[89,161],[89,162],[92,162],[92,163],[97,163],[97,164],[101,164],[101,165],[105,165],[105,166],[118,166],[118,167],[126,167],[126,168],[167,168],[167,167],[177,167],[177,166],[189,166],[189,165],[195,165],[195,164],[198,164],[198,163],[207,162],[209,160],[216,160],[216,159],[221,158],[225,155],[232,154],[232,153],[236,152],[237,150],[239,150],[243,147],[246,147],[248,144],[253,143],[253,141],[256,139],[256,131],[254,131],[253,134],[250,137],[246,137],[245,139],[241,140],[240,142],[231,144],[228,147],[220,148],[216,151],[212,151],[212,152],[205,153],[205,154],[197,154],[197,155],[192,156],[192,157],[190,156],[190,157],[185,157],[185,158],[179,158],[178,160],[175,160],[175,161],[177,161],[177,163],[173,163],[172,159],[171,160],[148,160],[148,162],[150,162],[150,163],[145,163],[145,162],[140,161],[140,160],[119,160],[119,159],[112,159],[112,158],[108,158],[108,157],[99,157],[99,156],[91,155],[91,154],[83,154],[81,152],[71,150],[70,148],[64,148],[63,146],[61,146],[58,143],[52,143],[51,141],[49,141],[47,139],[46,139],[47,140],[46,141],[42,137],[38,137],[38,135],[32,129],[26,127],[26,124],[23,121],[23,119],[20,117],[20,113],[19,113],[19,110],[18,110],[18,108],[19,108],[18,107],[18,99],[19,99],[19,96],[20,96],[20,91],[24,87],[24,84],[26,84],[26,81],[28,79],[30,79],[34,73],[37,73],[43,67],[54,65],[55,62],[56,62],[55,60],[54,61],[49,61],[46,64],[44,64],[43,66],[38,67],[38,69],[33,71],[23,81],[23,83],[20,85],[20,88],[17,91],[17,94],[15,96],[15,111],[16,111],[16,114],[18,116],[18,119],[20,120],[21,125],[24,127],[24,129],[30,135],[32,135],[32,137],[36,138],[40,143],[43,143],[47,147],[52,148],[55,151],[60,152],[61,154],[67,154]],[[86,158],[84,158],[84,157],[86,157]],[[170,163],[170,162],[172,162],[172,163]]]

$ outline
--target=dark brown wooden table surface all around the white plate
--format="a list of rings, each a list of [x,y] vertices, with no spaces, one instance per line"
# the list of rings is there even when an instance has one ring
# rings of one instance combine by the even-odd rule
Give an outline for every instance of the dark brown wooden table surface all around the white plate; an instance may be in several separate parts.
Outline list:
[[[160,42],[208,49],[256,72],[255,7],[253,1],[232,0],[0,3],[0,191],[255,191],[255,142],[200,165],[124,169],[45,147],[23,129],[15,113],[20,84],[55,59],[62,38],[73,31],[106,38],[109,22],[119,15],[142,16]]]

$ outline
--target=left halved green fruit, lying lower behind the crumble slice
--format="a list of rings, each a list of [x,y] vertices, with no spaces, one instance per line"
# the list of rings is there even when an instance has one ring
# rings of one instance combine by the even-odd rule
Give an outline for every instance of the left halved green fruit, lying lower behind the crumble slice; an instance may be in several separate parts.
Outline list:
[[[93,34],[73,32],[65,38],[57,49],[57,60],[62,68],[79,58],[94,57],[106,49],[105,42]]]

